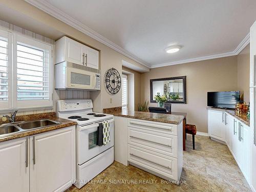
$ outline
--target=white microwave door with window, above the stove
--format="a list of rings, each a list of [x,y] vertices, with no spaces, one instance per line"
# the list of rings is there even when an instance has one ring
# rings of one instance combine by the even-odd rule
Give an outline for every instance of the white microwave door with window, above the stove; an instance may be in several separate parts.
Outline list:
[[[67,87],[77,89],[95,89],[95,73],[67,67]]]

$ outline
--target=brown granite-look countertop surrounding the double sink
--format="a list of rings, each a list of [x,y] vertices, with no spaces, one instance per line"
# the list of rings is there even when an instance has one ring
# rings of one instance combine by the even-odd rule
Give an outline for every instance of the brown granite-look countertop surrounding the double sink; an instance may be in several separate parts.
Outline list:
[[[33,119],[31,119],[31,117],[33,117]],[[37,117],[37,118],[36,118]],[[35,135],[35,134],[39,134],[39,133],[44,133],[44,132],[49,132],[49,131],[53,131],[53,130],[57,130],[57,129],[61,129],[67,126],[72,126],[72,125],[76,125],[77,123],[75,121],[71,121],[68,119],[62,119],[59,117],[56,117],[54,115],[42,115],[42,114],[38,114],[38,115],[31,115],[31,116],[23,116],[23,118],[20,116],[17,119],[19,119],[19,121],[22,120],[37,120],[37,119],[51,119],[54,121],[59,122],[60,124],[57,125],[52,125],[52,126],[47,126],[47,127],[42,127],[40,129],[35,129],[35,130],[26,130],[26,131],[22,131],[22,132],[15,132],[12,133],[9,136],[4,136],[4,135],[0,135],[0,142],[2,141],[8,141],[11,139],[17,139],[17,138],[21,138],[21,137],[27,137],[30,135]]]

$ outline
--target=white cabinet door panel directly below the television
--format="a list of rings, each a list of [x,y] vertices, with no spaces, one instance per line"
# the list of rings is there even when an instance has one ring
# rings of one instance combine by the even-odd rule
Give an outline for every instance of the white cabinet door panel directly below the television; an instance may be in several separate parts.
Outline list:
[[[210,137],[225,141],[224,113],[218,110],[208,110],[208,132]]]

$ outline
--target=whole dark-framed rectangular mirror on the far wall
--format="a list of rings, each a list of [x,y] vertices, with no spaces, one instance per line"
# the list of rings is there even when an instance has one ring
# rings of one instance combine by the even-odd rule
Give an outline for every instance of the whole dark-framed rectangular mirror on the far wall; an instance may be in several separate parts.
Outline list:
[[[165,95],[167,103],[187,103],[186,76],[150,80],[150,99],[156,102],[155,95]]]

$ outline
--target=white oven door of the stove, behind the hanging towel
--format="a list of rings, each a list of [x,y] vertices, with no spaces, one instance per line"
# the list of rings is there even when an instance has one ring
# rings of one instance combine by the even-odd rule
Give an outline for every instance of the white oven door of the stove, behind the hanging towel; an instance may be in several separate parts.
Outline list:
[[[77,157],[79,165],[114,146],[114,120],[111,119],[108,121],[110,122],[110,142],[102,146],[97,145],[99,124],[78,126]]]

